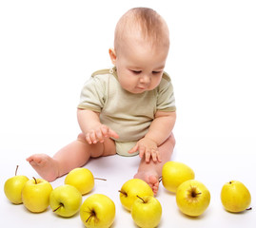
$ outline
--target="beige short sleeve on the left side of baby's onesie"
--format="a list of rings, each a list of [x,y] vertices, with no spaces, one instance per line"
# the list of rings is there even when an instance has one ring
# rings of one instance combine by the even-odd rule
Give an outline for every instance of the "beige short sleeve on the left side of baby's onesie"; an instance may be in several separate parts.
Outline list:
[[[84,85],[80,95],[80,103],[77,107],[101,112],[106,101],[105,94],[106,81],[100,75],[93,76]]]

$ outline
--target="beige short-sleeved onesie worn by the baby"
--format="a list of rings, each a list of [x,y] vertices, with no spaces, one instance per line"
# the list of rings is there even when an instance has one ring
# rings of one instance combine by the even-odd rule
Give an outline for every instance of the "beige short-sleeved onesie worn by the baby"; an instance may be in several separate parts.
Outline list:
[[[157,110],[176,109],[167,73],[153,90],[133,94],[121,87],[115,68],[99,70],[91,75],[82,89],[78,108],[100,113],[101,123],[119,135],[118,140],[113,140],[117,153],[123,156],[136,155],[128,154],[128,150],[147,134]]]

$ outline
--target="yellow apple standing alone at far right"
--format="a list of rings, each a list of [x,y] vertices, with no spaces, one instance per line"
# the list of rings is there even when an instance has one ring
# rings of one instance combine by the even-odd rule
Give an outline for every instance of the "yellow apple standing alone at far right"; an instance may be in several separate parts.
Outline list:
[[[224,184],[221,191],[221,200],[226,211],[242,212],[250,205],[251,197],[244,183],[231,180]]]

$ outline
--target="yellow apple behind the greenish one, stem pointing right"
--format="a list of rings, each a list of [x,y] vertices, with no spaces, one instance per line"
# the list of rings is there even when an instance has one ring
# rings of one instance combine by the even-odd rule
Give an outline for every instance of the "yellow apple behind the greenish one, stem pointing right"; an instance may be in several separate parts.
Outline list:
[[[87,168],[75,168],[69,172],[65,183],[76,187],[82,195],[85,195],[94,187],[94,177]]]

